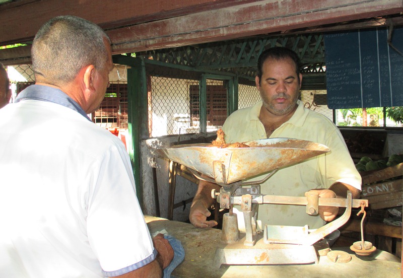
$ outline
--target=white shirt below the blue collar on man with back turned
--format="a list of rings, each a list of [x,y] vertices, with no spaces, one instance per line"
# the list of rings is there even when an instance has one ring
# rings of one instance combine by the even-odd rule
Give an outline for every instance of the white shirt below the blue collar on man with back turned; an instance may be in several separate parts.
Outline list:
[[[155,259],[116,136],[48,101],[0,118],[1,277],[117,276]]]

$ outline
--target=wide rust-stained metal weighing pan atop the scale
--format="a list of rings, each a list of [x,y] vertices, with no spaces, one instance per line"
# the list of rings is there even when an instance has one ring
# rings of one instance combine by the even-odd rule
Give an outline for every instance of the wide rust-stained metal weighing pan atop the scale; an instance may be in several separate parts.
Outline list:
[[[250,148],[217,148],[209,144],[157,149],[159,155],[221,183],[230,184],[301,162],[330,151],[326,146],[294,138],[268,138],[244,142]],[[220,164],[221,174],[217,173]],[[220,176],[222,175],[222,177]]]

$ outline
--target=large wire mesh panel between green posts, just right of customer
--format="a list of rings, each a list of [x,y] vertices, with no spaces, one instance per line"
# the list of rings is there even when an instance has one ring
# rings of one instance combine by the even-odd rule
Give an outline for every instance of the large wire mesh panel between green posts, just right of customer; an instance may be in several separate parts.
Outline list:
[[[201,74],[153,65],[146,72],[149,136],[199,133]]]

